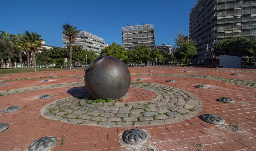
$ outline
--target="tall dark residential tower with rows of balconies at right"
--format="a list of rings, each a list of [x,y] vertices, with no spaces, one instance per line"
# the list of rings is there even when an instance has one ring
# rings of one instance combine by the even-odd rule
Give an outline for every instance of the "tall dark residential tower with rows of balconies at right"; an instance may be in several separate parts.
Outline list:
[[[198,60],[213,65],[214,44],[231,37],[256,35],[256,0],[197,0],[189,12],[189,37]]]

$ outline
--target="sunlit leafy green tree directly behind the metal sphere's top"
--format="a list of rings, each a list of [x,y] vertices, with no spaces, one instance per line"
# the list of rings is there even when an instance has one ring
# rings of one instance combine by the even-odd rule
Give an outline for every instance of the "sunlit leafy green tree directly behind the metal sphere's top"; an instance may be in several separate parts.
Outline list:
[[[101,56],[106,55],[118,58],[123,62],[128,59],[125,48],[115,42],[112,43],[112,45],[105,47],[100,54]]]

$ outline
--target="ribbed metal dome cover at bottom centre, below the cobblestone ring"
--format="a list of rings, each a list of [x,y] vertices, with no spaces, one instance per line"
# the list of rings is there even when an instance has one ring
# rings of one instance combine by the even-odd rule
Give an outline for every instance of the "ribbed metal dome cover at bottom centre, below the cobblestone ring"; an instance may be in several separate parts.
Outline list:
[[[141,129],[127,130],[124,135],[124,141],[131,145],[140,145],[148,140],[147,134]]]

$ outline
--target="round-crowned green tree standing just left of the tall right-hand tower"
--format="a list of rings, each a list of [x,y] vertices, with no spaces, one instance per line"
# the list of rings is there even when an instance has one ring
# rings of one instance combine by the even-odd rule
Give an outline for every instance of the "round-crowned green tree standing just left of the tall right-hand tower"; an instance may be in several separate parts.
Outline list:
[[[175,52],[175,57],[177,59],[185,59],[188,65],[188,59],[197,58],[197,52],[191,43],[185,43],[178,51]]]

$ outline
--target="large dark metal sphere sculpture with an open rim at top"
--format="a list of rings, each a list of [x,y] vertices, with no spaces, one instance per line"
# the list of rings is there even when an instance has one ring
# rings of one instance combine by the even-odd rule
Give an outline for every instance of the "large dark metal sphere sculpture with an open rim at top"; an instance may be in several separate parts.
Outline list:
[[[130,85],[127,66],[115,57],[103,55],[85,68],[85,87],[94,99],[121,98]]]

